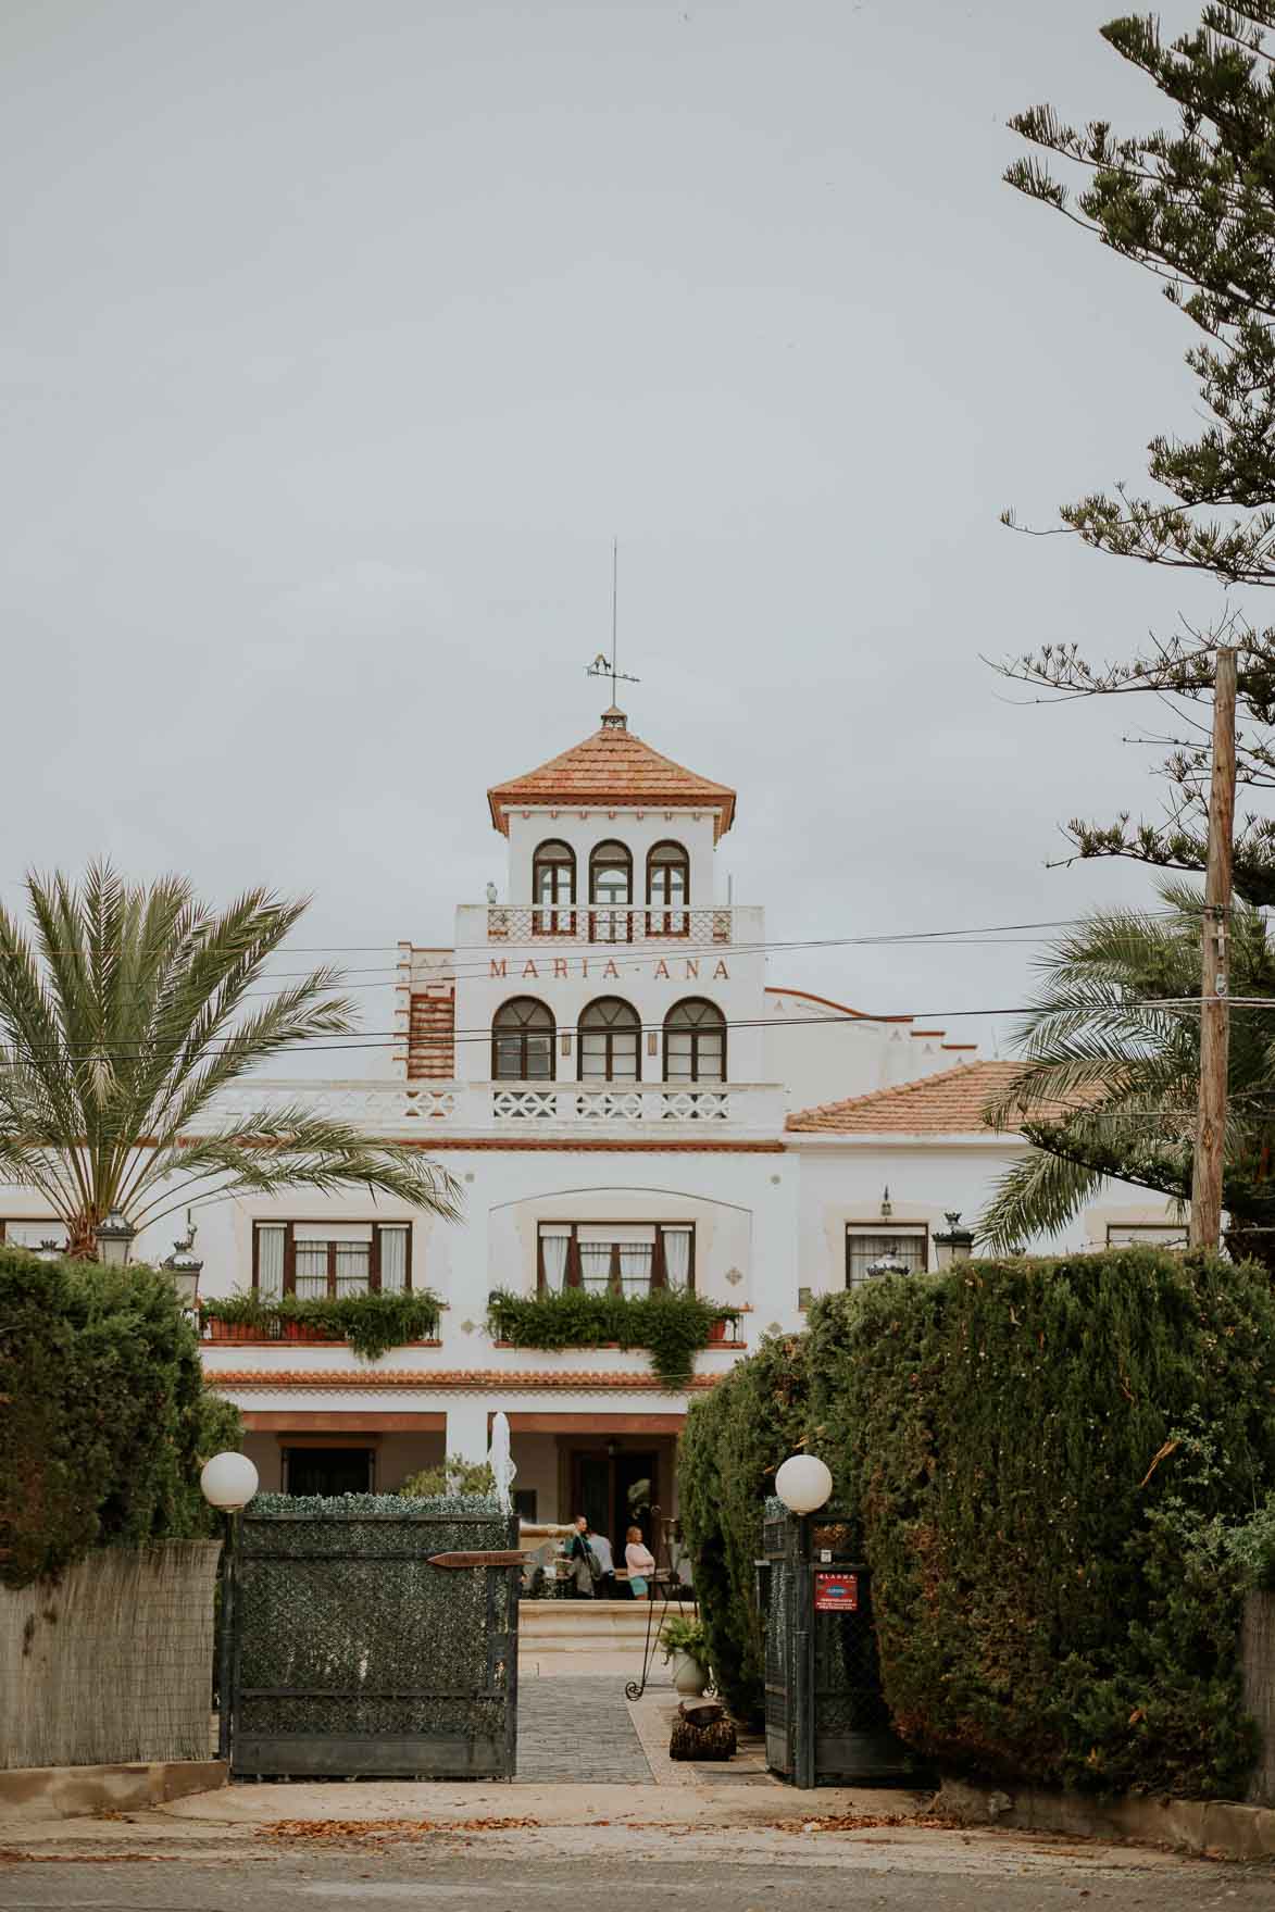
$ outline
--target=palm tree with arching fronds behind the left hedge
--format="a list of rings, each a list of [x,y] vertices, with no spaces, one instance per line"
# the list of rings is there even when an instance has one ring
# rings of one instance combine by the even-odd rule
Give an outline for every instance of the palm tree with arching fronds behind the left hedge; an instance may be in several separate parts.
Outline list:
[[[69,1252],[119,1210],[285,1187],[359,1187],[453,1218],[457,1185],[415,1149],[304,1107],[218,1119],[218,1096],[283,1050],[356,1027],[338,971],[273,994],[264,964],[306,910],[250,889],[216,912],[178,876],[128,887],[27,876],[31,935],[0,908],[0,1180],[38,1189]]]

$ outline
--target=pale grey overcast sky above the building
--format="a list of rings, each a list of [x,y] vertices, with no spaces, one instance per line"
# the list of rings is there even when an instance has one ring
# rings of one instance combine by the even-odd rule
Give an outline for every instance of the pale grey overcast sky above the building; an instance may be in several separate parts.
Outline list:
[[[1162,119],[1114,10],[8,0],[4,899],[107,853],[447,943],[487,784],[596,728],[617,533],[631,728],[738,788],[772,939],[1141,901],[1044,868],[1155,809],[1139,713],[979,662],[1221,606],[998,526],[1195,428],[1187,323],[1000,184],[1023,105]],[[772,981],[931,1015],[1030,956]]]

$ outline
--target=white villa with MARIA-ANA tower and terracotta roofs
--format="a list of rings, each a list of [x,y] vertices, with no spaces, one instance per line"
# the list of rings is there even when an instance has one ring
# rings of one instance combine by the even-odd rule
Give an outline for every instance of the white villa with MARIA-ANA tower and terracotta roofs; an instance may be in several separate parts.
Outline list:
[[[935,1266],[944,1216],[973,1218],[1023,1147],[981,1113],[1013,1065],[770,975],[763,908],[717,874],[734,792],[614,707],[489,809],[503,895],[457,910],[451,948],[400,945],[384,1073],[254,1080],[224,1101],[310,1101],[417,1145],[455,1176],[461,1220],[306,1193],[201,1214],[205,1296],[424,1287],[438,1340],[367,1363],[344,1342],[208,1338],[205,1367],[266,1488],[394,1489],[443,1455],[480,1459],[503,1409],[520,1512],[587,1512],[614,1535],[638,1507],[675,1510],[688,1401],[747,1348],[799,1331],[810,1296],[872,1279],[885,1254]],[[0,1189],[0,1224],[48,1235],[27,1191]],[[1113,1187],[1078,1239],[1128,1231],[1178,1235],[1164,1203]],[[495,1289],[608,1281],[690,1285],[738,1310],[738,1340],[705,1348],[673,1394],[640,1352],[489,1335]]]

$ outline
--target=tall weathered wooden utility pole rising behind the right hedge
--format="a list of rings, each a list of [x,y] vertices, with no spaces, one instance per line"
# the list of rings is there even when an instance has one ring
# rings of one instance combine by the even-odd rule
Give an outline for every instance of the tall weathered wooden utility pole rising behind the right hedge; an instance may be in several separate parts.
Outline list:
[[[1191,1247],[1221,1241],[1221,1155],[1227,1126],[1231,851],[1235,837],[1235,650],[1218,652],[1214,774],[1208,792],[1208,862],[1200,935],[1200,1107],[1191,1172]]]

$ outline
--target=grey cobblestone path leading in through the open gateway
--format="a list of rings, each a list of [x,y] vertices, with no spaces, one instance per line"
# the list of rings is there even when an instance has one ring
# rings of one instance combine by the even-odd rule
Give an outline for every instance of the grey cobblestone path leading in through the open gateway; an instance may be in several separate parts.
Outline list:
[[[650,1784],[619,1673],[568,1673],[518,1683],[518,1780]]]

